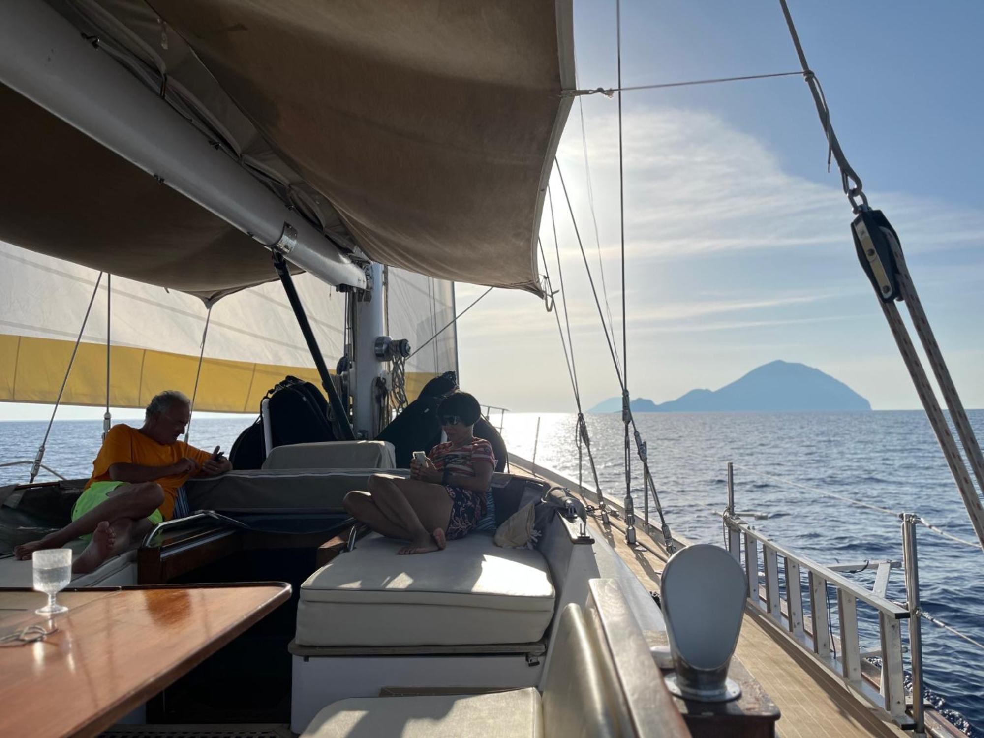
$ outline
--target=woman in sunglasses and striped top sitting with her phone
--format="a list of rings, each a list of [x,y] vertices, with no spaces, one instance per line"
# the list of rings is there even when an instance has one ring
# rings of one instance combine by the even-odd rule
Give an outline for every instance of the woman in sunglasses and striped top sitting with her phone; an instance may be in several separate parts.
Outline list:
[[[495,454],[472,434],[480,416],[478,400],[467,393],[441,400],[438,417],[447,443],[431,449],[425,462],[411,461],[409,479],[373,474],[368,492],[345,495],[345,510],[378,533],[408,540],[401,554],[438,551],[475,528],[493,529]]]

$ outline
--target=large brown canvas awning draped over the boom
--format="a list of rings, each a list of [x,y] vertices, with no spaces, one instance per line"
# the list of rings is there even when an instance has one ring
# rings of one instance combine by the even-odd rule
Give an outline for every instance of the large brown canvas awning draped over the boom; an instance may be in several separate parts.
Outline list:
[[[569,0],[78,0],[64,21],[336,243],[539,290],[574,87]],[[249,234],[58,119],[53,99],[0,91],[0,239],[203,296],[273,278]],[[111,129],[103,112],[93,125]]]

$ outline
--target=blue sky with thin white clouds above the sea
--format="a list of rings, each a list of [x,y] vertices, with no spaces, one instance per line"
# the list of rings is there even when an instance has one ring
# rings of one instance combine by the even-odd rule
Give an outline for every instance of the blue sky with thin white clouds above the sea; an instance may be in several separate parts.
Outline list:
[[[615,5],[574,6],[579,87],[614,87]],[[841,146],[901,237],[964,404],[984,407],[984,3],[790,0],[790,8]],[[624,86],[798,66],[777,0],[622,3]],[[714,390],[783,359],[831,374],[875,409],[918,407],[857,264],[852,215],[802,79],[625,92],[622,101],[632,396]],[[617,110],[614,99],[581,97],[558,158],[621,355]],[[559,252],[587,409],[617,396],[618,381],[556,171],[551,197],[540,271],[557,288]],[[458,285],[459,312],[482,291]],[[459,324],[462,389],[514,411],[574,410],[556,320],[532,295],[493,290]],[[0,418],[49,413],[50,405],[0,405]],[[58,416],[101,413],[66,407]]]

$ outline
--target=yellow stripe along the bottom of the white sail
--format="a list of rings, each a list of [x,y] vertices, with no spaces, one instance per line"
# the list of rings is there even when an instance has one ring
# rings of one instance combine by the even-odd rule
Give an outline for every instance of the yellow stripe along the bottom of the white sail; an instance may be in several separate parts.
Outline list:
[[[73,345],[71,340],[0,335],[0,401],[57,400]],[[113,407],[145,407],[162,390],[179,390],[191,397],[197,369],[198,356],[113,346],[110,351],[109,404]],[[195,409],[258,412],[260,400],[267,391],[288,374],[321,389],[318,370],[312,367],[206,357],[202,362]],[[435,376],[429,372],[407,372],[406,396],[416,398],[421,388]],[[104,344],[79,344],[61,401],[62,404],[105,404]]]

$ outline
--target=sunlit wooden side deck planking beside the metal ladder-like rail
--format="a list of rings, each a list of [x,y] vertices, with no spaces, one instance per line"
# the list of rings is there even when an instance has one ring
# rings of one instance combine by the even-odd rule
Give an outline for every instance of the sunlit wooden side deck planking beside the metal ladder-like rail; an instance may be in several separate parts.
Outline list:
[[[659,589],[659,575],[666,563],[664,555],[642,546],[629,546],[617,526],[605,528],[596,519],[588,523],[646,588]],[[798,653],[796,646],[783,643],[778,634],[773,636],[770,630],[771,626],[758,615],[746,612],[735,657],[781,710],[779,735],[797,738],[906,735],[845,694],[819,665]]]

